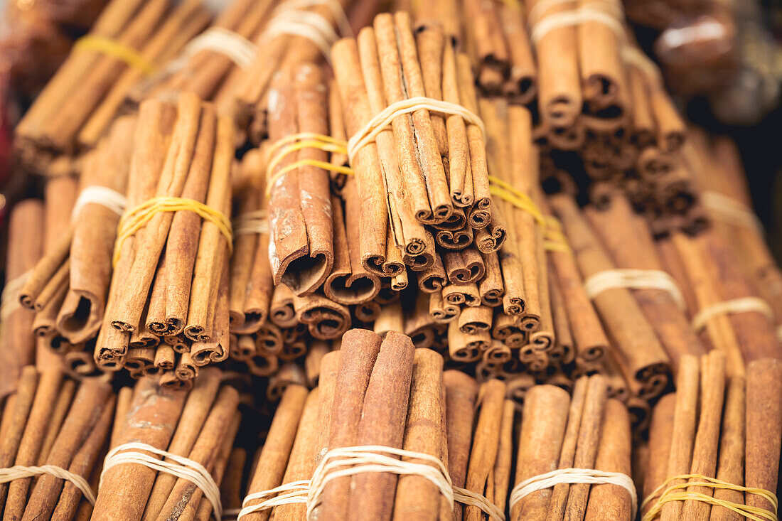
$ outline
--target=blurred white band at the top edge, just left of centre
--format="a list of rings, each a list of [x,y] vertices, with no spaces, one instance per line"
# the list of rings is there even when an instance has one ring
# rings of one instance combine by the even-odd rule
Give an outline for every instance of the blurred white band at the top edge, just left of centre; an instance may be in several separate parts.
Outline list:
[[[332,45],[339,34],[325,16],[307,8],[325,5],[332,12],[335,23],[343,36],[351,36],[350,21],[338,0],[287,0],[274,10],[274,17],[267,23],[260,36],[259,46],[282,34],[300,36],[312,41],[326,59],[331,60]]]

